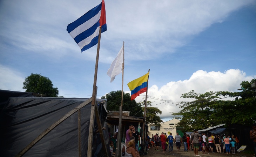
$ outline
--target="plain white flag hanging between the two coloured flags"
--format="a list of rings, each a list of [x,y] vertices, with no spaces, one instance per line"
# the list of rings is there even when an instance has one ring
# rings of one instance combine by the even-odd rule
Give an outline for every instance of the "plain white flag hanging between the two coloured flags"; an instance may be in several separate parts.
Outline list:
[[[115,60],[111,63],[107,75],[110,77],[110,83],[115,80],[116,75],[122,73],[123,64],[123,46],[117,54]]]

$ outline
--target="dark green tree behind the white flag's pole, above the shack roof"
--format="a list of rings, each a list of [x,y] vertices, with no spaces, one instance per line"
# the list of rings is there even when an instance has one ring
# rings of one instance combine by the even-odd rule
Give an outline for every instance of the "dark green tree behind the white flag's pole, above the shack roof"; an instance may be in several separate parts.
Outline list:
[[[119,106],[122,100],[122,91],[111,91],[106,96],[101,97],[102,99],[107,99],[107,110],[108,111],[119,111]],[[129,93],[123,94],[123,107],[122,111],[129,111],[130,116],[143,117],[142,108],[135,100],[131,100]]]

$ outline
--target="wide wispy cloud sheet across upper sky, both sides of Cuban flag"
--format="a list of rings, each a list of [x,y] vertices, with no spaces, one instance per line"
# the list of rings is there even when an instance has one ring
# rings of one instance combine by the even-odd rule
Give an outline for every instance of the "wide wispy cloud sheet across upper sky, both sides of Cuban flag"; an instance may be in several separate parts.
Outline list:
[[[102,34],[101,58],[114,58],[120,45],[126,42],[126,58],[150,60],[162,53],[173,53],[210,25],[222,22],[231,12],[253,0],[130,0],[107,1],[108,31]],[[65,5],[60,5],[65,3]],[[79,1],[16,1],[3,2],[1,35],[12,44],[45,55],[69,55],[79,48],[66,27],[97,3]],[[49,18],[50,17],[50,18]],[[10,20],[11,19],[11,20]],[[155,46],[152,46],[155,45]],[[103,47],[102,47],[103,46]],[[29,48],[28,48],[29,47]],[[49,52],[47,52],[49,51]],[[27,51],[28,52],[28,51]],[[88,50],[87,52],[92,52]],[[104,52],[104,51],[103,51]],[[140,53],[137,53],[140,52]],[[25,52],[24,52],[25,53]],[[94,60],[95,57],[87,58]],[[102,62],[106,62],[100,59]],[[109,63],[112,62],[109,60]]]

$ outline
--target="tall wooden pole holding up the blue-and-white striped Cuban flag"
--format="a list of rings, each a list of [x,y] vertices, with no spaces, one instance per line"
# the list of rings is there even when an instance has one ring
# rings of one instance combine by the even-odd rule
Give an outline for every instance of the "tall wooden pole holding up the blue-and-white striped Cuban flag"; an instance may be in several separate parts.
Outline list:
[[[99,31],[99,39],[98,39],[98,46],[97,46],[95,71],[94,71],[92,108],[91,108],[91,116],[90,116],[90,124],[89,124],[88,149],[87,149],[88,157],[92,157],[93,125],[94,125],[95,105],[96,105],[96,95],[97,95],[96,84],[97,84],[97,73],[98,73],[98,65],[99,65],[99,54],[100,54],[100,38],[101,38],[101,27]]]

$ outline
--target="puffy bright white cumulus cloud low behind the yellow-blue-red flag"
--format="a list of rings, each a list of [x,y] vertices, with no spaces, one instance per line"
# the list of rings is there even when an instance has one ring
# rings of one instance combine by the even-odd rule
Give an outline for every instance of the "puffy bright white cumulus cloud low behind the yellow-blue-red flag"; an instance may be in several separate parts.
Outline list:
[[[159,115],[161,118],[171,118],[173,115],[171,115],[170,112],[179,112],[181,110],[175,103],[178,104],[180,101],[193,101],[192,99],[180,98],[184,93],[188,93],[191,90],[195,90],[198,94],[203,94],[208,91],[236,92],[238,88],[241,88],[240,83],[242,81],[251,81],[253,78],[255,78],[255,76],[247,76],[245,72],[239,69],[229,69],[223,73],[198,70],[193,73],[188,80],[172,81],[160,88],[157,87],[157,85],[152,85],[148,89],[149,97],[147,100],[153,102],[152,105],[162,111],[162,114]],[[146,93],[143,93],[135,100],[140,102],[144,99],[145,94]],[[173,103],[165,102],[164,100]]]

